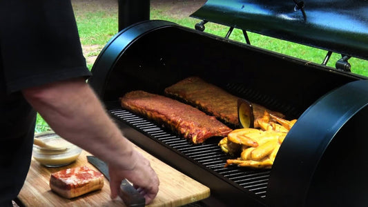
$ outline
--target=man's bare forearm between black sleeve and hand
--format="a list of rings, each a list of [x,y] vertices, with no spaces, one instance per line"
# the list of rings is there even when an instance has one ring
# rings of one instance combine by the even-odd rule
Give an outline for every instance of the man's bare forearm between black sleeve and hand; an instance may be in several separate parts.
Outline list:
[[[132,145],[122,137],[84,79],[29,88],[23,90],[23,95],[50,127],[68,141],[107,162],[115,162],[109,156],[112,152],[124,157],[132,155]]]

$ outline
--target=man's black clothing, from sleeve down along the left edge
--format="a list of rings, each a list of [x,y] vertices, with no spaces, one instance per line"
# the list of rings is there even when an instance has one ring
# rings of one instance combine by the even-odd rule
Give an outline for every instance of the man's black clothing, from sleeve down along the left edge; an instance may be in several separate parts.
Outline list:
[[[89,77],[70,0],[0,0],[0,206],[30,166],[36,112],[21,90]]]

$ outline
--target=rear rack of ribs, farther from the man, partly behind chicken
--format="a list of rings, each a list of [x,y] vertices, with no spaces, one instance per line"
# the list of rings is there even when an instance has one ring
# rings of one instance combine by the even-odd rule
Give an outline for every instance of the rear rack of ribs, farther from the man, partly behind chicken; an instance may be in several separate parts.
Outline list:
[[[200,77],[188,77],[179,81],[173,86],[165,88],[165,93],[186,101],[226,124],[239,126],[238,99],[240,98],[203,81]],[[256,103],[252,103],[252,106],[255,120],[263,116],[264,110],[277,117],[284,117],[280,112],[268,110]]]

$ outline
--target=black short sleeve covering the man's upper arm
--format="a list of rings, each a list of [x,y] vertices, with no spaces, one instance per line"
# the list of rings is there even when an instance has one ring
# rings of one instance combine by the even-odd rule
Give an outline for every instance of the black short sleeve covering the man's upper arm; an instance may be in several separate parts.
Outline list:
[[[0,2],[0,54],[8,92],[91,75],[70,0]]]

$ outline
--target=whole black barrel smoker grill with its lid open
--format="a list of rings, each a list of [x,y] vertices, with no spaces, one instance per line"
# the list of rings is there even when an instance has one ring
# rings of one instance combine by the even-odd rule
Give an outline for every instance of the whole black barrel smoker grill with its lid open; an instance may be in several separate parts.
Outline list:
[[[204,23],[213,21],[231,29],[240,27],[244,34],[247,30],[259,32],[329,53],[339,52],[342,57],[368,59],[368,12],[365,16],[358,12],[367,11],[368,3],[351,3],[355,3],[349,8],[355,16],[349,23],[360,24],[349,30],[348,20],[339,22],[336,29],[333,22],[329,22],[331,27],[322,27],[314,18],[321,14],[326,17],[326,12],[340,14],[337,7],[346,8],[345,1],[333,1],[336,8],[323,10],[318,10],[323,5],[320,1],[273,2],[207,1],[192,14],[202,20],[197,30],[162,20],[141,18],[137,23],[127,23],[101,51],[88,83],[128,139],[211,188],[207,200],[224,206],[365,206],[367,77],[217,37],[202,29]],[[124,5],[134,11],[142,8],[139,3],[138,7]],[[290,7],[293,12],[285,12]],[[264,19],[271,16],[277,18]],[[119,13],[119,24],[122,18]],[[283,26],[275,26],[277,21]],[[293,33],[287,34],[290,31]],[[336,66],[341,61],[347,66],[346,58]],[[119,105],[119,97],[126,92],[145,90],[164,95],[164,88],[189,76],[201,77],[233,95],[283,112],[287,119],[298,119],[271,170],[224,168],[231,157],[217,146],[220,137],[193,145]]]

